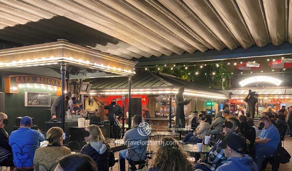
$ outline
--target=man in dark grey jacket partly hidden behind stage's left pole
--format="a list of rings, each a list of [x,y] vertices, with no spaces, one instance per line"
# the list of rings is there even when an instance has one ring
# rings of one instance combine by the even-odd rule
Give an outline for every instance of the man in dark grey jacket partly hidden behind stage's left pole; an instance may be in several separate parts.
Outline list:
[[[65,93],[65,107],[67,107],[70,99],[70,93]],[[51,118],[60,118],[62,114],[62,100],[61,96],[57,97],[51,106]]]

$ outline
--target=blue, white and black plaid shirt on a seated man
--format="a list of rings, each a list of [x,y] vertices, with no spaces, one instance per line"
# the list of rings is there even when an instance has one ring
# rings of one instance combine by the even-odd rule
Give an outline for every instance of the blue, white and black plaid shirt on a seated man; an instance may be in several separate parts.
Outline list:
[[[233,134],[236,134],[235,132]],[[238,133],[240,137],[243,137],[240,133]],[[244,138],[245,139],[245,138]],[[214,171],[216,170],[219,166],[223,165],[224,163],[227,162],[227,158],[224,155],[224,151],[222,148],[222,141],[219,140],[213,148],[210,150],[208,156],[203,158],[201,160],[202,165],[205,165],[208,167],[210,170]]]

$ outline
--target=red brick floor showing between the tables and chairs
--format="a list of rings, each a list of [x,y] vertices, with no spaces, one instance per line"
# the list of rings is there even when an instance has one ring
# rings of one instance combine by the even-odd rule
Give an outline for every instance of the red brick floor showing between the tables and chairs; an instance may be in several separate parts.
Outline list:
[[[290,153],[290,155],[292,156],[292,138],[287,138],[285,137],[285,141],[284,141],[284,148],[288,151],[288,153]],[[155,151],[156,147],[155,146],[151,146],[151,150]],[[114,153],[116,158],[119,158],[119,151],[116,151]],[[149,162],[149,164],[151,165],[151,160]],[[272,170],[271,169],[271,165],[268,164],[266,170]],[[113,171],[118,171],[118,163],[116,163],[113,167]],[[126,161],[126,170],[128,170],[128,162]],[[280,168],[279,171],[289,171],[292,170],[292,159],[290,160],[289,163],[286,164],[280,164]],[[3,171],[9,171],[9,169],[3,168]]]

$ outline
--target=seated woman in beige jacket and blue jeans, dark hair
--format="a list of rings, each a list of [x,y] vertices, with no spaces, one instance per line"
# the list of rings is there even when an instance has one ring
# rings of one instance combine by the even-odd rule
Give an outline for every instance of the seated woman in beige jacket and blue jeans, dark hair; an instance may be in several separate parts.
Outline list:
[[[205,139],[206,135],[210,135],[211,132],[211,115],[204,115],[202,117],[202,124],[200,124],[194,133],[189,132],[184,138],[183,142],[197,142],[201,143]]]

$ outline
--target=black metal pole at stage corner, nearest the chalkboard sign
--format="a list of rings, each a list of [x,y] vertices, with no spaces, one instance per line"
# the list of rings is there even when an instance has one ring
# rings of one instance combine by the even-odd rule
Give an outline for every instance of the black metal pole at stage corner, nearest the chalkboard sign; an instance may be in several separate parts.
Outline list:
[[[66,75],[66,64],[61,63],[61,116],[62,116],[62,129],[65,132],[65,75]]]

